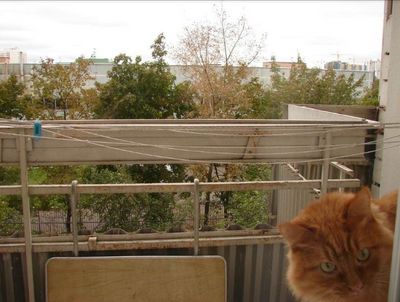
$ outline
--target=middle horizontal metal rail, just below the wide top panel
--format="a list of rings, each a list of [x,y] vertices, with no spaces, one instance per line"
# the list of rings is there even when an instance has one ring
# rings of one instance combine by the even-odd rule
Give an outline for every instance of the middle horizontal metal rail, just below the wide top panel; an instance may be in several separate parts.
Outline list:
[[[328,188],[357,188],[359,179],[329,179]],[[276,189],[319,189],[320,180],[279,180],[254,182],[200,183],[202,192],[276,190]],[[180,193],[191,192],[192,183],[149,183],[149,184],[79,184],[79,194],[114,193]],[[71,185],[29,185],[30,195],[70,194]],[[21,186],[0,186],[0,195],[20,195]]]

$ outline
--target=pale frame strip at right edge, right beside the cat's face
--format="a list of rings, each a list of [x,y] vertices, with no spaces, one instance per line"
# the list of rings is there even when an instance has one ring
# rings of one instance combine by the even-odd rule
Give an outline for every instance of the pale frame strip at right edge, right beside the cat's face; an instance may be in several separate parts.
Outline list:
[[[388,301],[400,301],[400,194],[397,198],[396,226],[394,228],[392,266],[390,268]]]

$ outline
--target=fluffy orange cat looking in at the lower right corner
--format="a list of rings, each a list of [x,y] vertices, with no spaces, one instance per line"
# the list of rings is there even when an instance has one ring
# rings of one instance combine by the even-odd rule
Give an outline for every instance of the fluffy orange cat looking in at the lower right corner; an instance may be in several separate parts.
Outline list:
[[[329,193],[279,229],[302,302],[386,302],[397,193]]]

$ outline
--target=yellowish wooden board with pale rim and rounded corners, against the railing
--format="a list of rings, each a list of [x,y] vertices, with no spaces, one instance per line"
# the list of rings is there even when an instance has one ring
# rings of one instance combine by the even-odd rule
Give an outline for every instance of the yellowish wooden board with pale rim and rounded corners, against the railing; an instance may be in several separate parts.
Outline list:
[[[224,302],[226,264],[219,256],[52,258],[47,302]]]

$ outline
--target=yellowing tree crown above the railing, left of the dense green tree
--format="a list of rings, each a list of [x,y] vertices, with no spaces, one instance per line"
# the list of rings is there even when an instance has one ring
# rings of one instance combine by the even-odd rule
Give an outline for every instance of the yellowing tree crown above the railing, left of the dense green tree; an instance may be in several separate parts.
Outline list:
[[[87,81],[91,61],[82,57],[74,63],[56,64],[51,58],[42,59],[41,64],[32,69],[33,95],[40,108],[40,116],[50,119],[90,118],[93,107],[87,104]],[[93,100],[89,98],[89,100]]]

